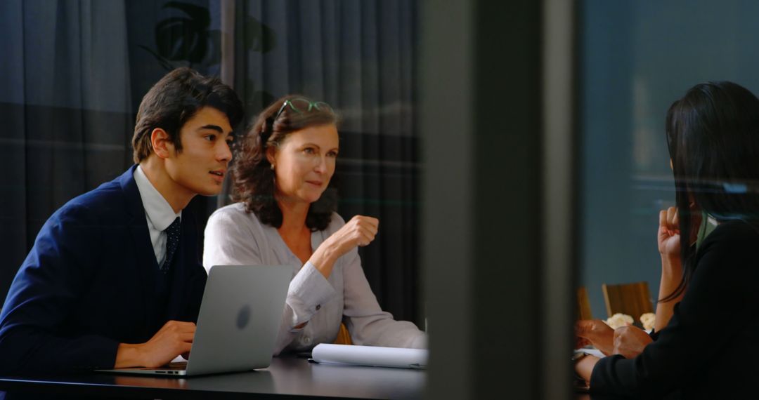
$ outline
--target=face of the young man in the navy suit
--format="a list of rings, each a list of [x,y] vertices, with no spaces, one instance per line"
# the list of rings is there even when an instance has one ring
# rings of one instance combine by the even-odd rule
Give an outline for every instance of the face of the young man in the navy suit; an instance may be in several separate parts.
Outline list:
[[[226,114],[203,107],[179,131],[181,152],[165,160],[175,190],[187,195],[218,195],[232,155],[229,143],[232,128]]]

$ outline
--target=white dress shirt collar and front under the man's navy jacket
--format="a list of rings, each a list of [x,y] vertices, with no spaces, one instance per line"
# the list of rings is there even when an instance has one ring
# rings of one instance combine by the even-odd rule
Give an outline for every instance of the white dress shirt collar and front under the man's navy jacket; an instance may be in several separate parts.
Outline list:
[[[140,198],[143,201],[147,229],[150,230],[150,242],[153,243],[153,252],[156,253],[158,266],[161,267],[166,258],[166,233],[164,230],[177,217],[181,218],[182,211],[174,212],[172,206],[163,198],[156,186],[153,186],[153,183],[147,179],[140,165],[134,169],[134,183],[137,183],[137,190],[140,192]]]

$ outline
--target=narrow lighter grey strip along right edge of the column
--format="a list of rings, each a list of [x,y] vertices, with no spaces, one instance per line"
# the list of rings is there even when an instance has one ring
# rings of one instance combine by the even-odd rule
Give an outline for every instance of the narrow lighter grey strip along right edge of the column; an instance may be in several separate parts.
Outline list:
[[[571,387],[577,276],[575,1],[543,0],[543,358],[542,398]]]

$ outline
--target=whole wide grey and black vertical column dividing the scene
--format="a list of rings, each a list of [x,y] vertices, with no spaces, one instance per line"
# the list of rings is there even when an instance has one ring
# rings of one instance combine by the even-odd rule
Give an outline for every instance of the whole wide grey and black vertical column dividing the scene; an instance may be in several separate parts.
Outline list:
[[[546,30],[543,20],[556,16],[544,4],[461,0],[420,9],[428,398],[571,394],[563,377],[568,325],[547,319],[571,319],[563,311],[571,261],[547,264],[568,252],[571,180],[549,186],[572,173],[571,136],[552,142],[572,132],[558,128],[574,111],[564,103],[572,69],[560,74],[547,64],[571,58],[572,48],[550,44],[559,33]],[[560,205],[548,195],[568,198]]]

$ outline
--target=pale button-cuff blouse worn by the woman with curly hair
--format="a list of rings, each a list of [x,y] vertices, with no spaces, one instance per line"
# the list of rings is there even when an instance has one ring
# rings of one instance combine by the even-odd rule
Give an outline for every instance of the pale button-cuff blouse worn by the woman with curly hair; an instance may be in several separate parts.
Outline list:
[[[343,225],[342,217],[332,214],[326,230],[311,233],[312,251]],[[414,323],[393,320],[392,314],[379,308],[357,248],[338,258],[325,279],[310,262],[301,265],[276,228],[246,213],[242,203],[216,210],[206,225],[203,266],[210,270],[213,265],[256,264],[282,265],[293,273],[274,355],[334,342],[341,322],[356,345],[427,346],[427,335]],[[304,327],[294,329],[304,322]]]

